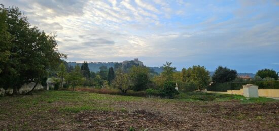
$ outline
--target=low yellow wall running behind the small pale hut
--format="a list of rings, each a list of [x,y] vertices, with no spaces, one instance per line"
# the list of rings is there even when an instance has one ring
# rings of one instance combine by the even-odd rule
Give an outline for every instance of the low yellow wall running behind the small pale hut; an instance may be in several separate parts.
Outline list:
[[[227,92],[216,92],[216,91],[207,91],[207,93],[220,93],[220,94],[231,94],[231,90]],[[258,90],[260,97],[278,97],[279,98],[279,89],[259,89]],[[232,90],[232,94],[243,95],[243,88],[240,90]]]

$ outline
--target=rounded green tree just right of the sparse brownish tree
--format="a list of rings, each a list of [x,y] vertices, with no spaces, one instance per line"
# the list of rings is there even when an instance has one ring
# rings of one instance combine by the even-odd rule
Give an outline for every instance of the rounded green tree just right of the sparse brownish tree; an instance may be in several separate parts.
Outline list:
[[[149,69],[147,67],[133,66],[130,69],[130,76],[134,83],[133,90],[142,91],[147,89],[149,82]]]

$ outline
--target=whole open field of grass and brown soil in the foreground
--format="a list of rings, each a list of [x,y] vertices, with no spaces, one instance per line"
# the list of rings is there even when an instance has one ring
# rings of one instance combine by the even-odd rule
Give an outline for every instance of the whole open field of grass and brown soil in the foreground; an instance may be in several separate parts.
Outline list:
[[[279,102],[43,91],[0,97],[0,130],[279,130]]]

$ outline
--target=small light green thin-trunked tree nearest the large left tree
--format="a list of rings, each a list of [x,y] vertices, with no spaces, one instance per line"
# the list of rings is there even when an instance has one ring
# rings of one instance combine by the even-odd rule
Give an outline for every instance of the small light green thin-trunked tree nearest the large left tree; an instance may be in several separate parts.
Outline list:
[[[77,85],[81,85],[83,81],[85,80],[84,77],[82,77],[81,69],[79,65],[76,65],[74,67],[74,70],[68,74],[67,80],[69,81],[69,84],[72,85],[72,92],[74,92],[74,88]]]

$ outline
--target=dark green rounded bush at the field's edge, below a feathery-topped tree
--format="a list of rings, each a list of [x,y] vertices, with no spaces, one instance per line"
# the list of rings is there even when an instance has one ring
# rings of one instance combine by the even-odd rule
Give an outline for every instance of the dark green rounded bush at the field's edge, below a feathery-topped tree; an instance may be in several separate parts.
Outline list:
[[[167,81],[164,83],[163,95],[168,98],[173,98],[175,95],[179,94],[176,90],[176,83],[173,81]]]

